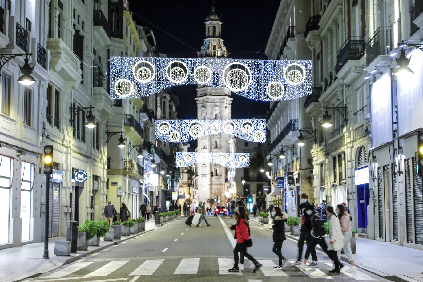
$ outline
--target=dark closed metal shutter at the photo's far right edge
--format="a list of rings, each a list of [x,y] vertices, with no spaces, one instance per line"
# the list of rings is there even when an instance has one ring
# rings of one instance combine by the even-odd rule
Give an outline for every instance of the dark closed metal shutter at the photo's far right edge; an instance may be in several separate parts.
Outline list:
[[[413,198],[415,244],[423,244],[423,192],[422,178],[418,175],[416,157],[413,157]]]

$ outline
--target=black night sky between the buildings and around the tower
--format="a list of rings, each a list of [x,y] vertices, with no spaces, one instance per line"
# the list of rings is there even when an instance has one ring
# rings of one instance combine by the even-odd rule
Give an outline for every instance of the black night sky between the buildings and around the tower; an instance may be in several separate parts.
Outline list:
[[[280,1],[216,0],[222,22],[222,39],[234,59],[267,59],[264,54]],[[197,57],[205,38],[211,0],[129,0],[137,25],[153,30],[157,48],[168,57]],[[168,33],[168,34],[167,34]],[[171,36],[170,36],[170,35]],[[180,41],[172,38],[178,38]],[[181,105],[178,118],[197,118],[196,85],[176,86]],[[232,118],[266,114],[269,102],[254,101],[232,93]]]

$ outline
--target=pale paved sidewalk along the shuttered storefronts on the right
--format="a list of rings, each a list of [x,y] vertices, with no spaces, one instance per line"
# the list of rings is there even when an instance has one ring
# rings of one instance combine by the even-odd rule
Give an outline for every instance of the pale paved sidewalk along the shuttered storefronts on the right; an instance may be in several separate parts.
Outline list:
[[[272,230],[272,224],[258,222],[258,218],[251,219]],[[286,237],[298,241],[299,236],[285,233]],[[357,253],[354,254],[354,263],[357,267],[393,281],[420,281],[423,282],[423,251],[378,242],[356,236]],[[316,247],[322,251],[319,247]],[[348,262],[345,255],[342,260]]]

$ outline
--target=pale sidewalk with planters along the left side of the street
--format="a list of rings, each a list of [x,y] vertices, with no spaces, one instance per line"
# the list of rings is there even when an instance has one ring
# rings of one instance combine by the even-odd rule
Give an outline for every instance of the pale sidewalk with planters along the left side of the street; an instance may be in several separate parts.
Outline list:
[[[164,224],[167,223],[168,222]],[[154,219],[150,220],[146,222],[146,230],[142,233],[153,230],[161,225],[163,225],[163,223],[156,225],[154,224]],[[44,241],[0,250],[0,281],[14,282],[29,277],[37,277],[40,274],[52,271],[55,268],[71,263],[81,257],[91,255],[130,238],[137,237],[142,233],[122,236],[121,239],[115,239],[113,241],[104,241],[103,238],[100,238],[99,246],[89,246],[87,251],[78,251],[76,254],[71,254],[70,257],[57,257],[54,255],[55,241],[66,240],[66,237],[54,237],[49,239],[49,259],[42,258],[44,254]]]

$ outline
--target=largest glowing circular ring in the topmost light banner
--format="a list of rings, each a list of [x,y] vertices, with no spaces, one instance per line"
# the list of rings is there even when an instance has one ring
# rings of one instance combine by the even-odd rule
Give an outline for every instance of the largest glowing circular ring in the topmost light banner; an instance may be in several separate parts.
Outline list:
[[[223,82],[234,92],[245,90],[251,83],[250,68],[243,63],[231,63],[223,71]]]

